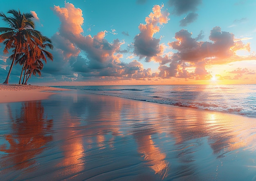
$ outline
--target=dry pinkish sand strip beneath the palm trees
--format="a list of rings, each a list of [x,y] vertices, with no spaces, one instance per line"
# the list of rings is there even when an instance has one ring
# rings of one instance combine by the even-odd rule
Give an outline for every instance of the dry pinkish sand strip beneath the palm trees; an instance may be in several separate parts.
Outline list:
[[[47,99],[50,95],[56,94],[54,91],[61,90],[67,89],[38,85],[0,84],[0,103]]]

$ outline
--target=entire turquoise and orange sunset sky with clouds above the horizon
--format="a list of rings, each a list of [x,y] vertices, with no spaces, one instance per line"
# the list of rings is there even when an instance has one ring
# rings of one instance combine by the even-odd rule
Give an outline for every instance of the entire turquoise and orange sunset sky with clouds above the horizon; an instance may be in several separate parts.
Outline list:
[[[255,0],[0,1],[3,13],[32,13],[54,45],[53,62],[29,84],[256,83]],[[3,48],[2,82],[11,64]],[[20,71],[13,67],[9,83]]]

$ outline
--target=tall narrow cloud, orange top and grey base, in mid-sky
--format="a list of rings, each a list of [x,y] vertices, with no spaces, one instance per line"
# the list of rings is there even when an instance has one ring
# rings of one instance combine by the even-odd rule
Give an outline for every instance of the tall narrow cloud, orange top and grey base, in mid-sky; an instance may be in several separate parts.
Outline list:
[[[160,39],[154,38],[154,34],[159,32],[160,26],[166,24],[169,20],[169,13],[162,12],[164,6],[155,5],[153,13],[146,17],[146,24],[140,24],[140,33],[134,38],[134,54],[139,58],[146,58],[149,62],[151,57],[161,53]]]

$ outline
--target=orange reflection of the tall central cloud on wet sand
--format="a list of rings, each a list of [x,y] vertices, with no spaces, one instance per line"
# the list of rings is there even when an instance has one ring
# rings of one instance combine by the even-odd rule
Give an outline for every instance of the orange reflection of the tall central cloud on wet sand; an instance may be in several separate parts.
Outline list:
[[[144,102],[130,101],[121,109],[121,114],[122,120],[129,123],[128,132],[132,132],[138,145],[137,150],[142,154],[146,165],[164,179],[170,165],[166,161],[166,154],[161,152],[161,149],[152,139],[153,134],[161,133],[161,125],[151,119],[152,116],[156,116],[153,109],[153,107],[145,108]],[[157,117],[155,118],[157,119]]]

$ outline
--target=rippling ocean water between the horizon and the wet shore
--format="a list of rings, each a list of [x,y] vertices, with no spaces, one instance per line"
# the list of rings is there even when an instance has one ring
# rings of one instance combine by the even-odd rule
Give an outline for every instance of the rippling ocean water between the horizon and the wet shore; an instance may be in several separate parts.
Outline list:
[[[60,86],[91,94],[256,117],[254,85]]]

